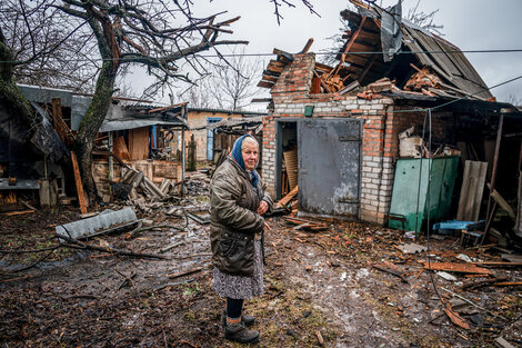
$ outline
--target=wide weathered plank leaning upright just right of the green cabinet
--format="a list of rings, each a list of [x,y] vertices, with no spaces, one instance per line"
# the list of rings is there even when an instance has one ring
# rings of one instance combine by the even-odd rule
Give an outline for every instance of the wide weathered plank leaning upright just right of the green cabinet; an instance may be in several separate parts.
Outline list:
[[[479,221],[488,162],[465,161],[456,220]]]

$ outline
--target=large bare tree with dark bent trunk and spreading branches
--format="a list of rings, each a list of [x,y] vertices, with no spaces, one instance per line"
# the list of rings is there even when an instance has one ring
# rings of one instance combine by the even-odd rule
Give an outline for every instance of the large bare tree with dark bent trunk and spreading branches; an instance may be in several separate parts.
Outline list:
[[[32,53],[29,53],[29,58],[21,60],[17,60],[13,54],[18,50],[10,48],[19,42],[11,40],[8,43],[2,34],[4,46],[2,53],[10,56],[7,60],[2,60],[8,62],[2,67],[4,68],[2,70],[11,76],[2,74],[1,77],[4,77],[4,81],[9,83],[13,82],[14,67],[28,66],[38,61],[40,57],[48,57],[68,40],[83,40],[82,44],[78,46],[79,49],[89,48],[91,44],[96,44],[98,48],[98,54],[93,57],[94,60],[99,57],[97,62],[100,66],[94,97],[80,123],[73,145],[80,159],[83,185],[89,198],[93,199],[97,193],[90,171],[93,139],[111,103],[117,77],[124,66],[142,64],[148,67],[149,73],[158,79],[153,88],[159,89],[171,79],[189,81],[187,74],[178,71],[177,62],[179,60],[185,59],[198,70],[200,68],[197,67],[200,52],[213,49],[220,56],[218,46],[248,43],[248,41],[218,39],[222,33],[232,33],[227,27],[239,18],[218,21],[218,18],[224,12],[195,18],[190,4],[190,1],[178,0],[173,2],[163,0],[147,2],[138,0],[56,0],[32,4],[29,8],[27,3],[23,3],[20,6],[22,12],[20,20],[23,20],[27,26],[27,34],[24,40],[20,42],[23,42],[23,46],[29,46],[30,49],[21,51]],[[40,19],[32,20],[37,17]],[[59,22],[60,18],[64,18],[67,21]],[[47,24],[49,30],[39,30],[37,24],[42,22]],[[84,28],[89,30],[86,31]],[[41,38],[47,38],[48,33],[60,30],[70,32],[70,34],[41,41]],[[74,58],[74,54],[67,54],[66,59],[68,58]]]

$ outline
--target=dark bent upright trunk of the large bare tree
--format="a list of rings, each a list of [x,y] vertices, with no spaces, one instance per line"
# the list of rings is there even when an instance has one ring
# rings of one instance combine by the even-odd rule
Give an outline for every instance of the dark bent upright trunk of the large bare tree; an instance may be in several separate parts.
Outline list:
[[[86,116],[81,120],[73,148],[77,151],[79,167],[83,187],[86,189],[89,201],[93,203],[98,198],[94,179],[92,178],[92,147],[94,138],[100,129],[103,120],[109,111],[112,102],[112,92],[118,71],[118,63],[114,61],[106,61],[100,70],[97,80],[94,97],[87,110]]]

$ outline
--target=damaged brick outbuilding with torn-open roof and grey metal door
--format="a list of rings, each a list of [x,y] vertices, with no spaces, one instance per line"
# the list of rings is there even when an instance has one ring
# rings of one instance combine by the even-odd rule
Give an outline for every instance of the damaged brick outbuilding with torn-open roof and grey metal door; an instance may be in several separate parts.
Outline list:
[[[278,59],[269,63],[258,84],[270,88],[272,96],[263,119],[262,177],[280,198],[283,158],[291,147],[297,148],[300,213],[383,223],[390,210],[399,133],[412,126],[421,132],[426,108],[433,108],[436,143],[463,147],[465,159],[465,146],[480,142],[482,158],[476,160],[491,162],[484,143],[494,139],[500,111],[510,106],[492,99],[450,42],[403,23],[403,51],[430,51],[436,46],[460,53],[441,58],[415,52],[384,61],[383,54],[360,53],[381,51],[378,17],[348,10],[341,14],[352,28],[338,67],[318,62],[314,53],[274,50]],[[416,67],[426,73],[419,76],[422,71]],[[426,82],[415,91],[412,81],[416,87]]]

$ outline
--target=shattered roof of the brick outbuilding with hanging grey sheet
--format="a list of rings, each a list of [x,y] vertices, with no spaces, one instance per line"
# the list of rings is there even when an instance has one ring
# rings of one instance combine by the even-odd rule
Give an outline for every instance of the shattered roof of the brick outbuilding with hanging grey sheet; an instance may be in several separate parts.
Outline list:
[[[463,52],[451,42],[401,17],[400,6],[382,11],[358,6],[359,12],[343,10],[349,30],[340,48],[337,67],[315,62],[311,93],[344,95],[388,79],[393,92],[432,98],[494,101],[488,86]],[[272,88],[293,54],[274,49],[258,87]],[[304,53],[305,50],[300,53]],[[385,52],[385,53],[384,53]]]

